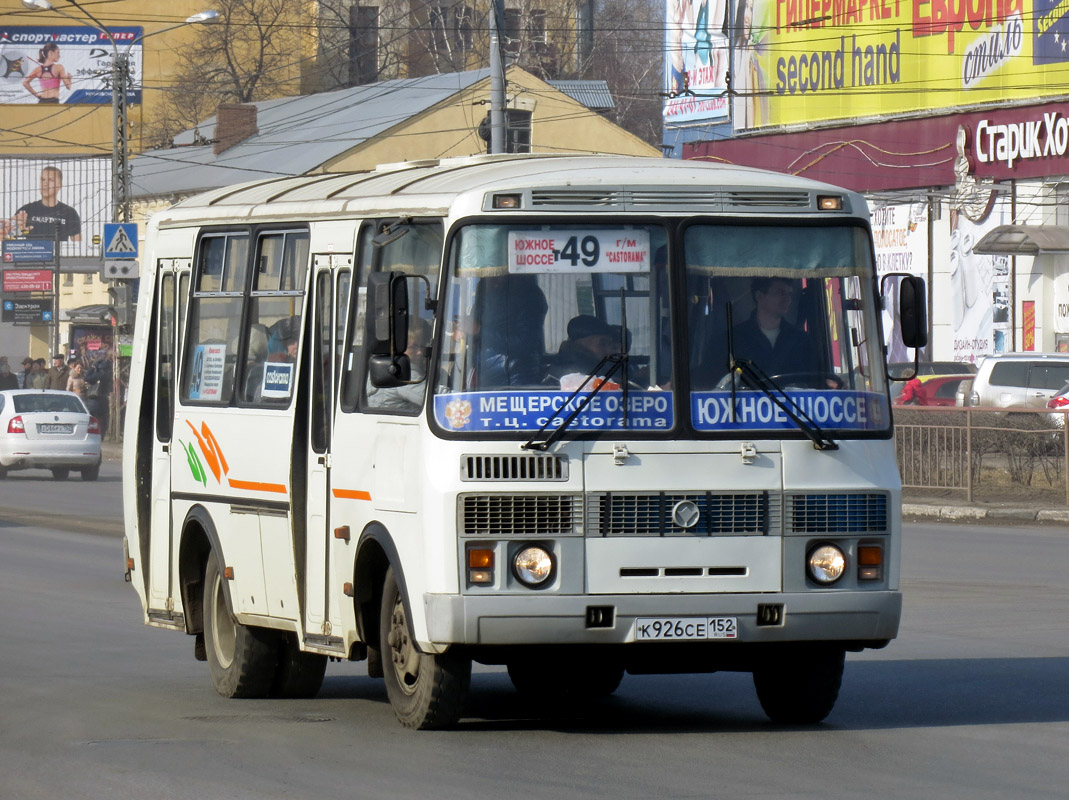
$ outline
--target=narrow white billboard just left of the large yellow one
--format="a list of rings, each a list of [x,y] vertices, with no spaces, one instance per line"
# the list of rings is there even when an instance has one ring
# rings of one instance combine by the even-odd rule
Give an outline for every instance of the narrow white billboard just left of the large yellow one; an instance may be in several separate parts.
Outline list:
[[[667,0],[666,125],[727,119],[727,9],[728,0]]]

